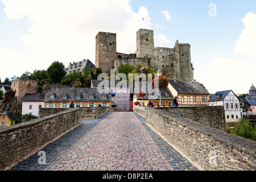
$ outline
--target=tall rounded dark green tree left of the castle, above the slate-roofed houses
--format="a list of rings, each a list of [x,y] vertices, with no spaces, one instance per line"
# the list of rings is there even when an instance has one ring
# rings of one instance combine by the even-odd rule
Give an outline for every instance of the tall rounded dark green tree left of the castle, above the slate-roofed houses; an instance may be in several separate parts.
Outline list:
[[[61,79],[66,75],[65,65],[59,61],[54,61],[46,71],[47,78],[51,84],[61,82]]]

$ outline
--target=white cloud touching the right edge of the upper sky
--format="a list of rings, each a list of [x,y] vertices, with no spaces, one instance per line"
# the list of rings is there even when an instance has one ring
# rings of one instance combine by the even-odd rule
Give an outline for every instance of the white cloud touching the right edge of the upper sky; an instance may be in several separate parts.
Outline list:
[[[245,24],[240,38],[237,40],[235,53],[256,59],[256,14],[248,13],[242,22]]]

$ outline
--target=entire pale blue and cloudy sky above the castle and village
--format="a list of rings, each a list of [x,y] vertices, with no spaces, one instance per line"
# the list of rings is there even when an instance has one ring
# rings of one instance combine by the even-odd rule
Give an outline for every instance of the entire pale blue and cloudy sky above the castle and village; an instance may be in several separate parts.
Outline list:
[[[134,53],[140,28],[154,30],[155,47],[189,43],[194,79],[209,93],[256,86],[255,0],[0,0],[0,78],[53,61],[95,63],[100,31]]]

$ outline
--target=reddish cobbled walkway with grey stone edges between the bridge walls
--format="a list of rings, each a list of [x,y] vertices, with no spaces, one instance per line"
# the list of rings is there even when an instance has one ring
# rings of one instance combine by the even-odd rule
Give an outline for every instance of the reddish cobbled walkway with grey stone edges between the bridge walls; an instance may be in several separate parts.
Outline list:
[[[44,147],[46,164],[38,153],[11,170],[197,170],[133,112],[106,113],[82,119],[82,125]]]

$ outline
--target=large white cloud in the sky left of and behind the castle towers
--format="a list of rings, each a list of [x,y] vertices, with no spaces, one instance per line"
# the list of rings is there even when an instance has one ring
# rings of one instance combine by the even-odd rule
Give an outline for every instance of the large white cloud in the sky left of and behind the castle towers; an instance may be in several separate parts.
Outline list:
[[[6,63],[15,57],[23,63],[23,67],[13,69],[11,76],[47,69],[55,60],[66,66],[82,59],[94,62],[95,37],[99,31],[117,33],[117,51],[134,53],[137,30],[154,27],[147,9],[140,7],[135,13],[129,0],[89,3],[84,0],[2,0],[2,3],[7,18],[25,19],[30,26],[29,32],[20,38],[27,45],[27,52],[23,49],[14,56],[5,56]],[[2,77],[9,74],[1,71]]]

